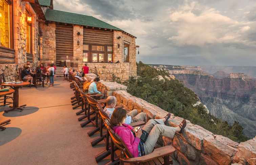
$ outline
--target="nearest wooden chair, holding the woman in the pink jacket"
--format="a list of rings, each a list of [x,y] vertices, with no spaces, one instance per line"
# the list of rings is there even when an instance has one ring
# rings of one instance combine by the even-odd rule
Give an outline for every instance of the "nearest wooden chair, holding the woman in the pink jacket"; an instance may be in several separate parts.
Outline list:
[[[105,119],[105,123],[107,125],[107,129],[111,137],[111,141],[121,151],[120,158],[119,158],[120,165],[124,165],[124,163],[130,163],[131,165],[145,165],[145,164],[170,165],[172,164],[172,161],[170,161],[169,156],[175,152],[174,147],[168,145],[161,148],[156,148],[151,154],[134,158],[132,154],[129,152],[129,150],[127,149],[123,140],[118,136],[118,134],[116,134],[113,131],[112,129],[113,126],[111,125],[110,120]]]

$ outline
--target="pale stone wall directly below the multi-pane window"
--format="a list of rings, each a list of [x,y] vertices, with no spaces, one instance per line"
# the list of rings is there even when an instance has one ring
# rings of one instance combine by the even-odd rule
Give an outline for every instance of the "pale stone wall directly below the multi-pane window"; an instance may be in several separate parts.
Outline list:
[[[81,71],[85,63],[79,63],[78,68]],[[98,74],[102,80],[112,80],[113,75],[119,77],[121,81],[129,79],[130,63],[87,63],[89,73]]]

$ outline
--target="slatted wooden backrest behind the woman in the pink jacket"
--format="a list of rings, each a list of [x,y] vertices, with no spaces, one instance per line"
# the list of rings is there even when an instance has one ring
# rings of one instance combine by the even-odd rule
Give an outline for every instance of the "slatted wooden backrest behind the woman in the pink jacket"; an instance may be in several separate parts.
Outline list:
[[[112,139],[112,141],[114,142],[115,146],[118,147],[120,150],[124,151],[125,155],[127,158],[133,158],[132,154],[129,152],[128,148],[126,147],[125,143],[123,142],[123,140],[119,137],[118,134],[116,134],[113,131],[113,126],[110,122],[109,118],[106,118],[104,120],[105,122],[105,126],[108,129],[109,135]]]

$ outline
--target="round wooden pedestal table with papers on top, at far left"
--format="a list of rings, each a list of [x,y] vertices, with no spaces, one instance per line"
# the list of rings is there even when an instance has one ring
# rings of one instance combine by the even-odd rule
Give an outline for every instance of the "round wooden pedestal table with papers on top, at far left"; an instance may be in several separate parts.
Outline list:
[[[12,109],[5,110],[4,112],[8,113],[9,111],[13,111],[16,109],[19,109],[20,112],[23,111],[23,108],[26,106],[26,104],[19,106],[19,89],[22,86],[27,86],[29,84],[30,82],[22,82],[20,84],[1,84],[2,86],[9,86],[15,90],[15,92],[13,93],[13,107],[11,107]]]

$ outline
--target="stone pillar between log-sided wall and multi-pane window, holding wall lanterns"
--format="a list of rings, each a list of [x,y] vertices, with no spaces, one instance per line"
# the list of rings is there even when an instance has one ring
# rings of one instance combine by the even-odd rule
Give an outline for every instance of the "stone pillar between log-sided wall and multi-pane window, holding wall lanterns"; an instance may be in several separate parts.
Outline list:
[[[83,31],[83,26],[73,26],[73,62],[76,63],[83,62]],[[77,35],[78,32],[80,35]]]

